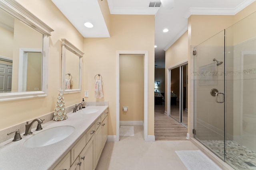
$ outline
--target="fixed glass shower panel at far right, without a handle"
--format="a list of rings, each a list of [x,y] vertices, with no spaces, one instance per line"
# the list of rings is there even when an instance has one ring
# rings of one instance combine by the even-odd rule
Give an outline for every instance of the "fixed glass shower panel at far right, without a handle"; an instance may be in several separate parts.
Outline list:
[[[226,29],[226,162],[256,170],[256,13]]]

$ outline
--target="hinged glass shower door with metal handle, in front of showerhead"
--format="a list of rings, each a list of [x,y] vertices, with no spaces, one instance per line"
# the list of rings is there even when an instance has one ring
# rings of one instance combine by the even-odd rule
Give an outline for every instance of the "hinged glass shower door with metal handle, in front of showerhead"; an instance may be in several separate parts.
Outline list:
[[[194,47],[194,137],[224,160],[224,33]]]

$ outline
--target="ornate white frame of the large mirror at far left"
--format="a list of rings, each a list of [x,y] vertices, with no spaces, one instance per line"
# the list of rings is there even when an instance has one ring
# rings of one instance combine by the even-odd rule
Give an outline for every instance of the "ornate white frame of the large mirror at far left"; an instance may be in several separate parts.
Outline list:
[[[43,35],[42,49],[42,91],[6,92],[0,94],[0,102],[47,96],[48,93],[48,50],[49,37],[54,31],[15,0],[0,0],[0,8],[18,20],[26,23]]]

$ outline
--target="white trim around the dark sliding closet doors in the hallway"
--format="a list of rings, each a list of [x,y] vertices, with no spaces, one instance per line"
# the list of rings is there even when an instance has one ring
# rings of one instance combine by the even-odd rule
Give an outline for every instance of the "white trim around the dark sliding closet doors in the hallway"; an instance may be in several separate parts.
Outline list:
[[[174,69],[174,68],[177,68],[177,67],[180,67],[180,66],[183,66],[183,65],[186,65],[188,64],[188,59],[180,62],[180,63],[177,63],[177,64],[174,64],[170,67],[167,68],[167,115],[170,116],[170,88],[171,88],[171,84],[170,84],[170,81],[171,81],[171,70]],[[182,89],[180,89],[182,90]],[[182,102],[180,100],[180,102]]]

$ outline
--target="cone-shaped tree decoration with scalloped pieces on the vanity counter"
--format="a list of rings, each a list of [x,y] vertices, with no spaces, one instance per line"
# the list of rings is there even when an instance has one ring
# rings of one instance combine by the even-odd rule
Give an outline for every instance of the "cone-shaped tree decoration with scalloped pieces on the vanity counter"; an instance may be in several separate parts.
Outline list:
[[[65,102],[64,102],[64,96],[63,96],[63,90],[59,90],[59,96],[58,101],[56,103],[56,108],[54,109],[54,117],[53,120],[55,121],[62,121],[65,119],[68,119]]]

